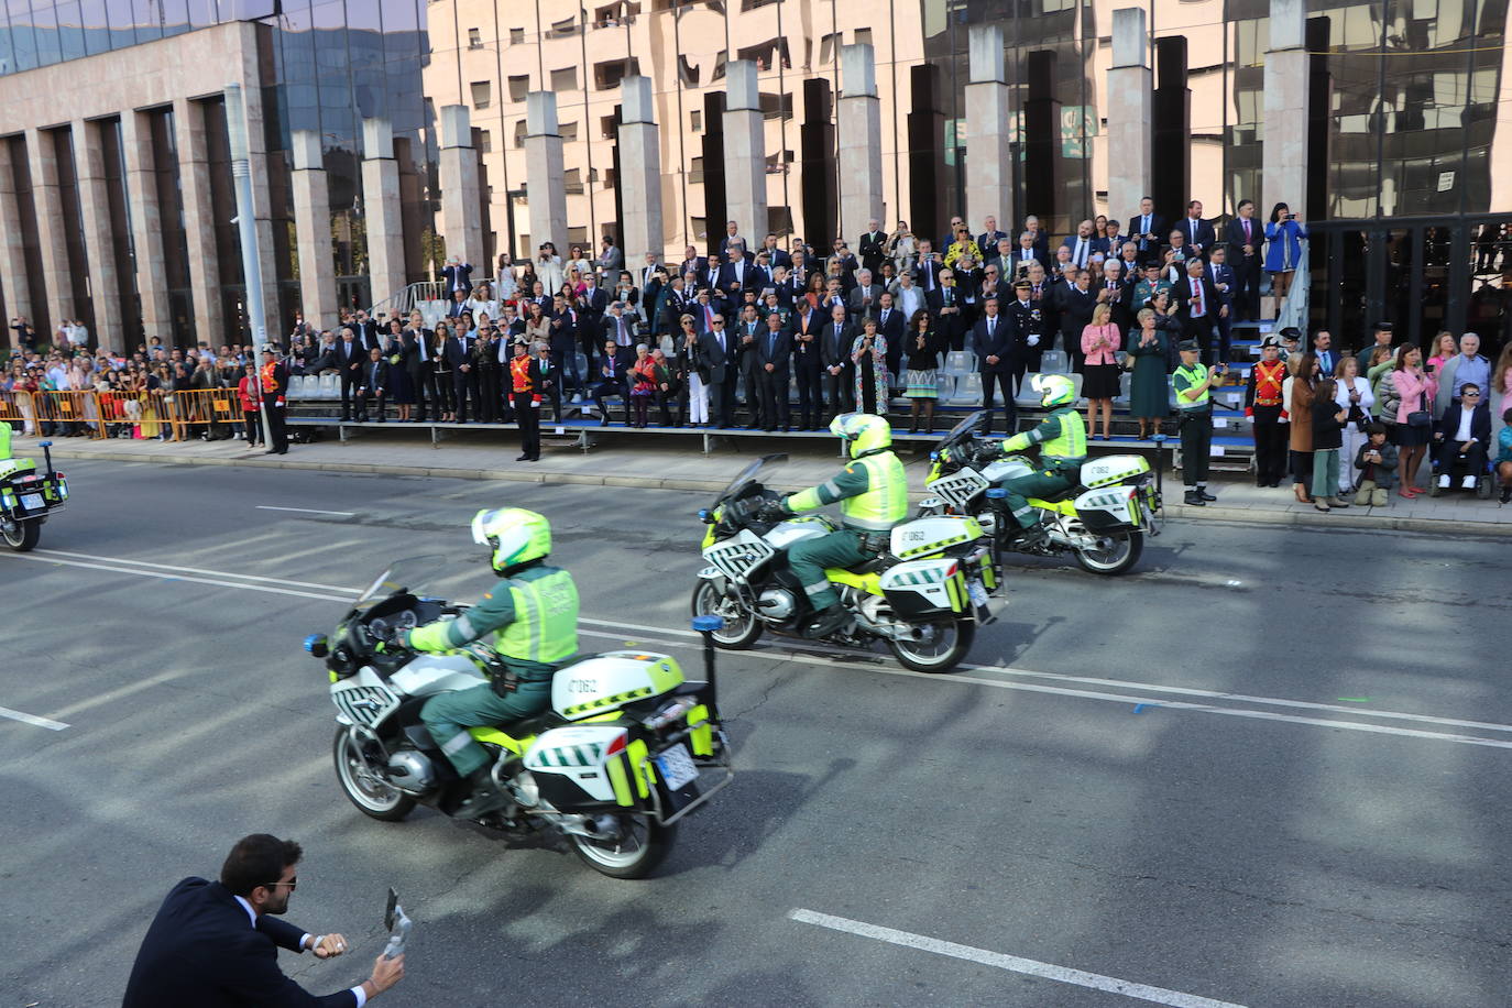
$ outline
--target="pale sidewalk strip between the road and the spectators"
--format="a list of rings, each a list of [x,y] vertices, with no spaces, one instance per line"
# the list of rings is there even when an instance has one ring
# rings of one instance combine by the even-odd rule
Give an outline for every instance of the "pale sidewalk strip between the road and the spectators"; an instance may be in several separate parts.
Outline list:
[[[17,437],[12,452],[41,461],[38,438]],[[119,462],[163,462],[175,465],[251,465],[266,468],[310,468],[321,472],[376,473],[393,476],[440,476],[449,479],[497,479],[534,484],[588,484],[599,487],[638,487],[717,493],[747,464],[764,453],[786,452],[777,487],[798,490],[824,482],[839,464],[836,446],[807,440],[783,443],[780,437],[727,438],[714,453],[705,455],[697,441],[680,437],[615,440],[588,452],[570,443],[546,438],[540,462],[516,462],[513,440],[485,432],[449,437],[438,447],[419,432],[363,434],[342,443],[290,444],[289,455],[268,456],[248,452],[240,441],[125,441],[54,438],[53,458],[103,459]],[[900,449],[909,470],[913,497],[924,496],[927,453]],[[67,472],[67,470],[65,470]],[[1479,500],[1455,490],[1445,497],[1403,500],[1393,491],[1390,508],[1349,508],[1321,514],[1300,505],[1290,485],[1264,490],[1247,481],[1216,482],[1210,490],[1219,497],[1205,508],[1181,502],[1179,479],[1166,473],[1166,517],[1173,520],[1241,521],[1252,524],[1302,524],[1347,529],[1393,529],[1453,535],[1512,535],[1512,506],[1495,499]]]

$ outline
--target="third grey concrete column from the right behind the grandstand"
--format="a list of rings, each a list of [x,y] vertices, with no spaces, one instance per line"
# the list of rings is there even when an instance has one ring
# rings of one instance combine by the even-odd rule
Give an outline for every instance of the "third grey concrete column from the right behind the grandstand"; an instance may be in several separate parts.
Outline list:
[[[966,224],[975,231],[987,216],[1013,228],[1013,125],[1002,27],[974,24],[966,42]],[[842,175],[844,178],[844,175]],[[1018,246],[1018,237],[1013,240]]]

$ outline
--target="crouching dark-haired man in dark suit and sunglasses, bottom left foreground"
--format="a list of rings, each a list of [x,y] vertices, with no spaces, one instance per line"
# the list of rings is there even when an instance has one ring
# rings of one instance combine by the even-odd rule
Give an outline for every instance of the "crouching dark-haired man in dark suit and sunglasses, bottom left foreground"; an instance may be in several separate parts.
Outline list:
[[[304,851],[266,833],[240,839],[221,866],[221,881],[186,878],[157,910],[132,966],[122,1008],[236,1008],[287,1005],[355,1008],[404,976],[404,957],[378,958],[349,990],[310,994],[278,969],[278,948],[316,958],[348,949],[340,934],[308,934],[278,920],[289,908]]]

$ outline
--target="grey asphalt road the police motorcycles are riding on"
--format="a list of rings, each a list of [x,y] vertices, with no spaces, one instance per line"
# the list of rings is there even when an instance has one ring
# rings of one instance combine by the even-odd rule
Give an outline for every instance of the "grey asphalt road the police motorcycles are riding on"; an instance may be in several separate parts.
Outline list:
[[[1015,570],[954,676],[726,656],[736,783],[659,877],[617,883],[425,810],[358,815],[299,639],[342,612],[324,586],[395,556],[442,555],[467,571],[449,589],[478,592],[466,523],[508,502],[552,515],[587,645],[667,642],[696,666],[702,497],[68,473],[42,550],[0,555],[0,706],[70,725],[0,718],[0,1008],[116,1000],[166,889],[260,830],[305,845],[290,919],[358,946],[286,957],[311,988],[366,975],[398,886],[416,935],[383,1005],[1500,1006],[1512,988],[1494,541],[1172,524],[1134,577]]]

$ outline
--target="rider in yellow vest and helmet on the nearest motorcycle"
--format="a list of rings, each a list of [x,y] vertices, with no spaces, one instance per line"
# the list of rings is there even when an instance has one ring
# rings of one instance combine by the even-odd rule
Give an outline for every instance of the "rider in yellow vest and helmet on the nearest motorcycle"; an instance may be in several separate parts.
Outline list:
[[[510,804],[491,777],[488,753],[467,728],[520,721],[546,710],[552,674],[578,653],[578,585],[572,574],[546,564],[552,526],[523,508],[479,511],[473,541],[493,550],[490,565],[500,580],[482,601],[460,617],[407,630],[399,642],[414,651],[442,653],[487,641],[500,659],[490,683],[440,694],[425,701],[420,719],[457,772],[472,781],[472,795],[457,810],[476,819]]]

